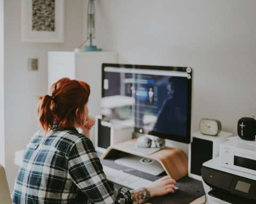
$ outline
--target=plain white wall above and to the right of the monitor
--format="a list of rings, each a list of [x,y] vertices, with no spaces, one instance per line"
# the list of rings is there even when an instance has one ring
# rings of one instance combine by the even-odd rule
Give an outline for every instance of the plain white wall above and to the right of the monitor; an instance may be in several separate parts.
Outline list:
[[[254,0],[101,0],[96,41],[122,63],[193,67],[192,132],[207,117],[236,133],[240,117],[256,114],[255,7]]]

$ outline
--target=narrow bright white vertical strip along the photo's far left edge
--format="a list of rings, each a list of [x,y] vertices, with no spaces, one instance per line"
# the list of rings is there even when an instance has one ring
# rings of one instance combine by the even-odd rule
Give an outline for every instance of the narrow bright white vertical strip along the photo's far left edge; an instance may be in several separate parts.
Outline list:
[[[0,164],[4,158],[4,0],[0,0]]]

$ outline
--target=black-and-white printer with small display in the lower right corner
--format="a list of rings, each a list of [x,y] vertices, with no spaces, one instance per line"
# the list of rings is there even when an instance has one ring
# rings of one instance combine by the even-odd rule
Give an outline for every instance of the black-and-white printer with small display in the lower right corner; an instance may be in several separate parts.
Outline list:
[[[221,144],[220,157],[203,164],[202,179],[209,204],[256,203],[256,142],[253,142],[232,137]]]

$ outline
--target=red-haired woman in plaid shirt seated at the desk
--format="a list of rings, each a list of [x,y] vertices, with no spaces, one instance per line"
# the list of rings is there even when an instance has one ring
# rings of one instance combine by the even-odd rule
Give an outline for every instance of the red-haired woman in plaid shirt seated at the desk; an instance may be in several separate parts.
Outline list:
[[[88,116],[89,95],[87,83],[63,78],[53,84],[51,96],[39,97],[42,128],[23,154],[13,203],[143,203],[175,191],[168,176],[138,190],[114,189],[89,139],[95,122]]]

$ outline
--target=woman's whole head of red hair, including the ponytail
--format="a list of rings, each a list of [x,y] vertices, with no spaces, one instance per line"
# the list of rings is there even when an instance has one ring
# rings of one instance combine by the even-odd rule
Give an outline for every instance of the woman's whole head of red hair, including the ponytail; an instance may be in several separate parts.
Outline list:
[[[45,131],[52,130],[53,124],[60,128],[83,125],[84,106],[90,96],[90,86],[77,80],[62,78],[52,85],[52,96],[39,96],[41,104],[37,113],[39,123]]]

